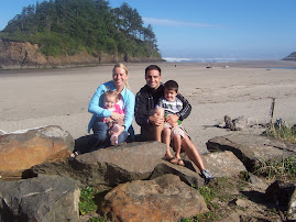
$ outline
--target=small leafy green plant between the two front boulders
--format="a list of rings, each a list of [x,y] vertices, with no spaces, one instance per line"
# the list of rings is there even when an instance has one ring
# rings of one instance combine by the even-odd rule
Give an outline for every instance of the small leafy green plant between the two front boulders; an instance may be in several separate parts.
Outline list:
[[[91,187],[86,187],[85,189],[80,188],[79,211],[83,215],[97,210],[94,200],[96,193],[98,193],[98,191]]]

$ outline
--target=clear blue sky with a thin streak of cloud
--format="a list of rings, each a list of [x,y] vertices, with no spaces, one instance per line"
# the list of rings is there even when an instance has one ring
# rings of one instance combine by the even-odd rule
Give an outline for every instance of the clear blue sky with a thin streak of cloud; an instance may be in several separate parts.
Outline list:
[[[42,0],[39,0],[42,1]],[[152,24],[163,57],[279,59],[296,52],[296,0],[109,0]],[[1,0],[0,30],[36,0]]]

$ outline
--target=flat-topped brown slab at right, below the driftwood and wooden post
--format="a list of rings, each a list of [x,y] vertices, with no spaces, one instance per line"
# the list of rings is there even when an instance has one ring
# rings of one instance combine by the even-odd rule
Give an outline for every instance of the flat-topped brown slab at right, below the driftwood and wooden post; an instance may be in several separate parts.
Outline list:
[[[207,142],[210,152],[231,151],[246,167],[253,170],[257,160],[283,160],[289,156],[296,157],[296,145],[273,137],[230,134],[217,136]]]

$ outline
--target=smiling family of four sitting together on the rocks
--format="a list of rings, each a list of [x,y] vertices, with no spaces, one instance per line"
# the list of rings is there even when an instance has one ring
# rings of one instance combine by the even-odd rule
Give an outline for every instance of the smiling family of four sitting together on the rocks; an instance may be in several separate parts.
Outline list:
[[[204,178],[212,180],[197,147],[182,125],[190,114],[191,106],[178,92],[178,84],[174,80],[162,84],[161,68],[150,65],[145,69],[146,85],[134,97],[128,79],[128,68],[120,63],[112,69],[112,80],[97,88],[88,107],[94,114],[88,125],[88,132],[94,132],[90,146],[125,142],[129,134],[133,136],[132,121],[135,116],[135,122],[141,126],[141,141],[163,142],[166,144],[164,158],[180,166],[184,166],[180,158],[183,148]],[[175,155],[172,155],[171,146]],[[77,155],[77,152],[73,155]]]

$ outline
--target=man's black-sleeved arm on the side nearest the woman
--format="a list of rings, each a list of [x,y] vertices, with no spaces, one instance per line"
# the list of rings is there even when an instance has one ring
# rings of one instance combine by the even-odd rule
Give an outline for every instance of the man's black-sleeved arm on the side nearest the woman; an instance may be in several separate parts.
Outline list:
[[[149,125],[147,102],[147,98],[139,91],[135,96],[134,118],[141,127]]]

